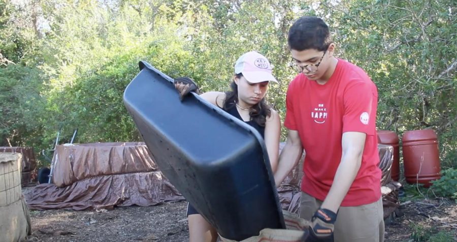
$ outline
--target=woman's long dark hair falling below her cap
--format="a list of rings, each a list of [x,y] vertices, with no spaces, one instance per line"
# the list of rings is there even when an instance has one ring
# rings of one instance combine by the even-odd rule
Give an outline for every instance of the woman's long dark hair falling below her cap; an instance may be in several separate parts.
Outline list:
[[[236,74],[237,78],[241,78],[243,74]],[[230,84],[232,88],[231,91],[225,92],[225,101],[223,106],[221,107],[223,110],[228,110],[233,108],[238,102],[238,85],[235,81],[232,81]],[[217,103],[217,102],[216,102]],[[249,116],[251,116],[251,120],[257,123],[259,126],[265,127],[265,122],[267,121],[267,117],[271,114],[270,106],[265,101],[265,97],[260,100],[256,105],[252,106],[251,111],[249,111]]]

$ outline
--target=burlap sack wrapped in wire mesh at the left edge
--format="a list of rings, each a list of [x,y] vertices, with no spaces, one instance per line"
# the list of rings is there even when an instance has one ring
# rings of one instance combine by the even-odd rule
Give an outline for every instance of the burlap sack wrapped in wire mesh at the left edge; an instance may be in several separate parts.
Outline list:
[[[21,190],[21,154],[0,153],[0,241],[22,241],[31,232]]]

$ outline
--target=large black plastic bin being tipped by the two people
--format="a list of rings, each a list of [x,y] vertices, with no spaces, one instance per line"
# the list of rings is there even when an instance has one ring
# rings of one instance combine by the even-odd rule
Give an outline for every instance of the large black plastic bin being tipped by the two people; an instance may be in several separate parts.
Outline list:
[[[151,156],[182,195],[228,239],[285,228],[262,136],[146,62],[124,104]]]

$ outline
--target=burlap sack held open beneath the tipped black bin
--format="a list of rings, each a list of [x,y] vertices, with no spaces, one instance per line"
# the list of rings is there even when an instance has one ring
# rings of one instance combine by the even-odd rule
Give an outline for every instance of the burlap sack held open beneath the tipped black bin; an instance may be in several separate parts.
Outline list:
[[[284,222],[287,229],[262,229],[259,235],[241,240],[240,242],[260,242],[260,241],[281,241],[299,242],[303,237],[303,230],[308,228],[309,221],[301,219],[297,214],[282,210]],[[220,236],[224,242],[237,242],[236,240],[226,239]]]

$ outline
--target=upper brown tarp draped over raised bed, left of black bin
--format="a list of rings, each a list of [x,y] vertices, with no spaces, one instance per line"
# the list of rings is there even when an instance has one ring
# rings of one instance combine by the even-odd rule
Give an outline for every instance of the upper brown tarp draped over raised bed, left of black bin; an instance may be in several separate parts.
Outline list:
[[[57,187],[100,175],[158,170],[144,142],[112,142],[57,145],[52,162]]]

